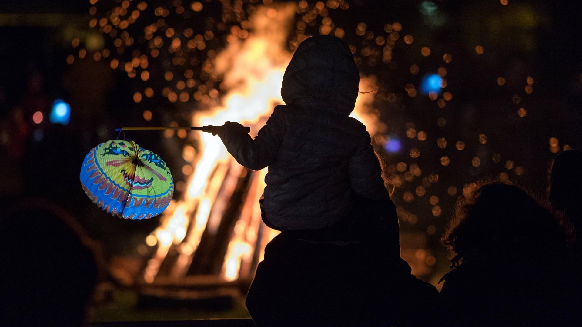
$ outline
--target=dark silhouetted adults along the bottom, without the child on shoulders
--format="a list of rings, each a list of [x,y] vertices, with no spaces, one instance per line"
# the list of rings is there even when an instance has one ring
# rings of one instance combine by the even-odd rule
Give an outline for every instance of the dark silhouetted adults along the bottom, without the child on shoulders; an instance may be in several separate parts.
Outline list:
[[[247,305],[260,326],[577,326],[581,200],[579,151],[556,157],[549,201],[508,182],[481,182],[459,197],[442,238],[454,269],[440,293],[410,275],[393,229],[378,222],[365,242],[283,232],[265,250],[257,273],[269,278],[255,282]],[[353,214],[396,215],[389,204],[360,199]],[[0,224],[1,325],[80,326],[98,275],[80,226],[38,199]]]

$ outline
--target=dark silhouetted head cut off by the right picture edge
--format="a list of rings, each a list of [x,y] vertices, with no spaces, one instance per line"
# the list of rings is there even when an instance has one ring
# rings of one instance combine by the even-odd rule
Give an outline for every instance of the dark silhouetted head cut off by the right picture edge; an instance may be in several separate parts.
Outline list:
[[[553,161],[548,200],[564,212],[582,236],[582,152],[568,150]],[[577,242],[580,246],[582,242]]]

